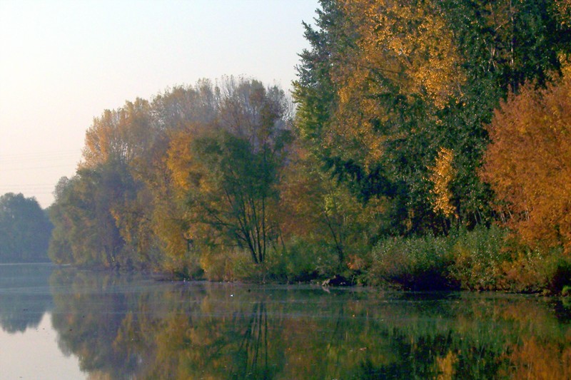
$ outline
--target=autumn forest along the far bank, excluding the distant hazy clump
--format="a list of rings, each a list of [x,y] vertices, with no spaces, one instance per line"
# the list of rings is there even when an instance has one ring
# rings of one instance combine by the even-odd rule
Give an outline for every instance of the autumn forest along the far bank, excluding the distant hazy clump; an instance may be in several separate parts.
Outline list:
[[[321,0],[290,96],[103,111],[51,260],[253,282],[571,290],[571,1]]]

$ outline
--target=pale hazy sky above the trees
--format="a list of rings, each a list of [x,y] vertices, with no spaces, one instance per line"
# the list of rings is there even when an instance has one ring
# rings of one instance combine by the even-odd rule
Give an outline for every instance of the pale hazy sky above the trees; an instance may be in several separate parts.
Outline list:
[[[318,0],[0,0],[0,195],[54,201],[106,109],[201,78],[290,90]]]

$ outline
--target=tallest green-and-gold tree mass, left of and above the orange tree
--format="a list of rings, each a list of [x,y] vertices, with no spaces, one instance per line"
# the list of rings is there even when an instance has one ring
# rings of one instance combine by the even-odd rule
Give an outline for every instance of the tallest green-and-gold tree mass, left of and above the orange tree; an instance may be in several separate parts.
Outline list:
[[[553,1],[321,1],[301,54],[300,138],[362,202],[386,197],[391,234],[441,230],[430,168],[451,150],[459,225],[489,223],[483,123],[510,86],[549,81],[570,29]],[[460,154],[461,152],[461,154]]]

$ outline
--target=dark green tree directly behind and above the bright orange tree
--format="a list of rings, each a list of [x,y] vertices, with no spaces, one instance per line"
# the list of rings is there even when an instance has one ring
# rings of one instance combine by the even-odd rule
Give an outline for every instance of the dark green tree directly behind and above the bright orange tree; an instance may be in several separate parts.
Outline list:
[[[560,1],[443,1],[455,43],[464,57],[465,86],[443,113],[448,148],[454,150],[453,204],[458,220],[490,222],[493,199],[478,171],[489,141],[487,125],[510,88],[547,83],[570,48],[571,29]]]

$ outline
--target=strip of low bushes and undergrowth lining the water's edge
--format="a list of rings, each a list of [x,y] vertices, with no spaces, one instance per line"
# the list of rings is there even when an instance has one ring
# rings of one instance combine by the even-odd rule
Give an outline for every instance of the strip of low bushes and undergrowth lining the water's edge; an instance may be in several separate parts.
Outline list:
[[[568,294],[571,260],[561,250],[531,250],[506,230],[482,227],[448,236],[389,237],[336,263],[334,252],[272,252],[254,264],[247,252],[203,253],[178,278],[255,283],[353,284],[413,291],[470,290]],[[187,268],[188,269],[188,268]],[[188,275],[191,274],[191,275]]]

